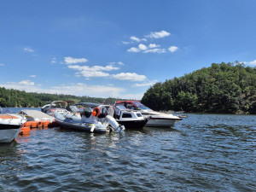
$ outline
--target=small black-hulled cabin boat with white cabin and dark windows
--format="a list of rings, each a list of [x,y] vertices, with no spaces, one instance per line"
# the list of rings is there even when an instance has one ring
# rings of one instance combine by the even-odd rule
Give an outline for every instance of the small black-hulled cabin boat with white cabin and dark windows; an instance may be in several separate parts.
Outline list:
[[[116,119],[119,124],[125,125],[126,129],[143,128],[148,122],[148,119],[144,118],[142,113],[127,109],[124,106],[116,106],[116,108],[114,108],[113,118]]]

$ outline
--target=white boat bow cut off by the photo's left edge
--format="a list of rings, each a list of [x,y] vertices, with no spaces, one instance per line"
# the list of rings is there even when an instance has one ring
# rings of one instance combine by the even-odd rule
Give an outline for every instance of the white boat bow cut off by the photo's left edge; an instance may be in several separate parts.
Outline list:
[[[10,143],[18,137],[26,118],[15,113],[0,114],[0,143]]]

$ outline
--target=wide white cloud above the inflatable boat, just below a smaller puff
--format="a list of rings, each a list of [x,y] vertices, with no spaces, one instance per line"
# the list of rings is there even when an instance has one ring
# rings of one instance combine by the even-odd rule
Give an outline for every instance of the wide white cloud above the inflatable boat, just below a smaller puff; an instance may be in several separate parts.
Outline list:
[[[113,70],[118,70],[119,67],[113,67],[113,65],[108,65],[106,67],[102,66],[79,66],[79,65],[70,65],[67,66],[68,68],[78,70],[79,72],[76,73],[77,76],[82,75],[84,78],[99,78],[99,77],[108,77],[108,73],[104,73],[102,71],[113,71]]]

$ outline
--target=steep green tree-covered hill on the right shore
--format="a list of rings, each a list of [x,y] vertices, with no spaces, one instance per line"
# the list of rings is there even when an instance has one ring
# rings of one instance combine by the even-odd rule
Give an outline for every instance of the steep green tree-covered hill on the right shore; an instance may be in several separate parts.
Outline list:
[[[142,102],[155,110],[256,113],[256,68],[236,63],[212,63],[212,67],[154,84]]]

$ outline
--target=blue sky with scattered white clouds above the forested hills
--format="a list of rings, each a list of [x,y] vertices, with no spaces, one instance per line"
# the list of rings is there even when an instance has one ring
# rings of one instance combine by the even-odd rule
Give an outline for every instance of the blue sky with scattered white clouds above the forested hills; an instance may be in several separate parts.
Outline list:
[[[141,99],[212,63],[256,67],[254,0],[0,1],[0,87]]]

